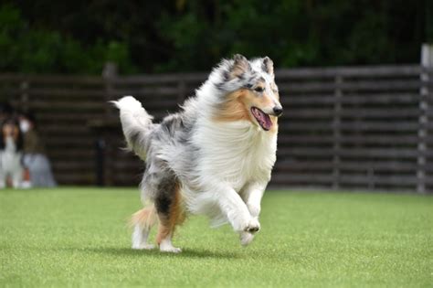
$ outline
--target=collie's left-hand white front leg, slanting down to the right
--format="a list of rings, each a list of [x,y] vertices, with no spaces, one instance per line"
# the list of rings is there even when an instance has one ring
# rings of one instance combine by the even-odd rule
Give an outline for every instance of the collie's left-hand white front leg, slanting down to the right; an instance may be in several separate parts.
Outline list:
[[[218,184],[212,189],[221,211],[226,215],[233,229],[238,232],[258,230],[257,221],[249,214],[247,205],[238,193],[227,185]]]

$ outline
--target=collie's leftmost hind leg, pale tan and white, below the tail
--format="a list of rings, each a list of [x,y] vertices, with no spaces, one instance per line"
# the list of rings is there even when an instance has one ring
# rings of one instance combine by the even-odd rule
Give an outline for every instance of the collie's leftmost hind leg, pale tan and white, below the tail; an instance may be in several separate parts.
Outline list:
[[[143,208],[132,215],[132,249],[150,250],[154,248],[153,244],[148,243],[148,239],[156,220],[154,205]]]

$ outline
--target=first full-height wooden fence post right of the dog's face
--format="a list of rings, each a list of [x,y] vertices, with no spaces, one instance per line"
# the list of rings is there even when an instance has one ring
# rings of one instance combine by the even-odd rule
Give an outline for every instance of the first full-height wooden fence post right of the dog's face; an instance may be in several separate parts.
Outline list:
[[[340,163],[341,163],[341,114],[342,114],[342,84],[343,76],[335,76],[335,91],[333,101],[333,189],[340,188]]]

